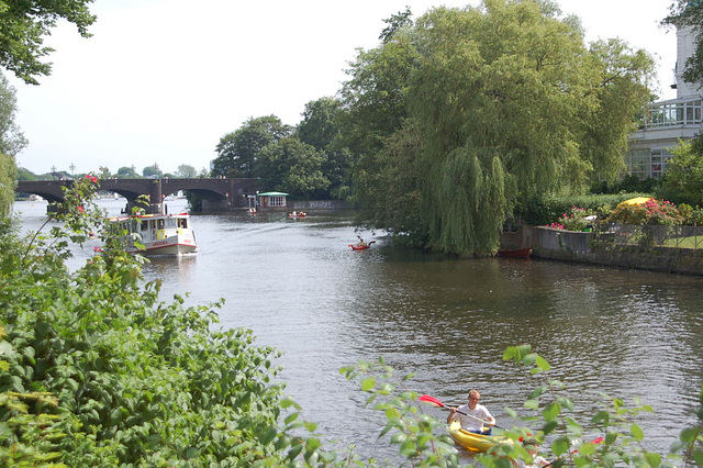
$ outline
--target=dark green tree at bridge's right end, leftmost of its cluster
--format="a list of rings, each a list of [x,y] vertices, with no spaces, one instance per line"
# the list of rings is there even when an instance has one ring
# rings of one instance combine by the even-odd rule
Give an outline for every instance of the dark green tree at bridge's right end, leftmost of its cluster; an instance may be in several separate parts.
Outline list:
[[[252,118],[238,130],[227,133],[217,144],[213,176],[254,177],[258,153],[292,133],[276,115]]]

